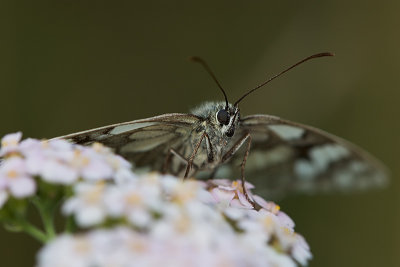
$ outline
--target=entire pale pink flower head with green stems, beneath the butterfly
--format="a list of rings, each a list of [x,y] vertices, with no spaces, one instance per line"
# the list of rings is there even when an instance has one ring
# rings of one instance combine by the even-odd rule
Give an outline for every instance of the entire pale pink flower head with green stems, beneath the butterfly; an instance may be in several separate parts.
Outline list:
[[[138,175],[101,144],[21,136],[1,141],[0,221],[46,242],[38,267],[298,266],[312,257],[290,217],[250,183]],[[44,231],[21,221],[28,203]],[[57,236],[60,206],[69,223]]]

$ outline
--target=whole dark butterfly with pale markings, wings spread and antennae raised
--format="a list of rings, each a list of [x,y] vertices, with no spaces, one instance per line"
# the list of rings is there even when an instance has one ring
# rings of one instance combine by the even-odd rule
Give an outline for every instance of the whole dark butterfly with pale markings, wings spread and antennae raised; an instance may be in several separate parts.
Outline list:
[[[234,104],[208,65],[201,63],[224,94],[190,114],[170,113],[118,123],[60,138],[78,144],[100,142],[136,168],[188,177],[241,177],[262,184],[269,197],[288,192],[354,190],[385,184],[385,167],[365,151],[319,129],[271,115],[240,115],[239,103],[279,75],[245,93]],[[246,192],[246,191],[245,191]]]

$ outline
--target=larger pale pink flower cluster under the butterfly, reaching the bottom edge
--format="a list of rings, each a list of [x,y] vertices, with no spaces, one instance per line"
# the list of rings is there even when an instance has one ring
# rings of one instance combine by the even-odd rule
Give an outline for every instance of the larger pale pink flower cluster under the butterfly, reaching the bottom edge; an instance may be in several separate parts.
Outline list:
[[[57,238],[41,251],[38,266],[67,259],[74,259],[71,266],[305,265],[311,253],[293,221],[257,196],[251,195],[263,208],[248,206],[238,184],[156,173],[78,183],[63,212],[80,227],[109,228]]]

